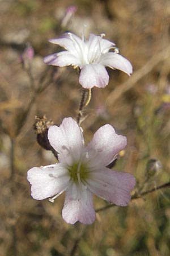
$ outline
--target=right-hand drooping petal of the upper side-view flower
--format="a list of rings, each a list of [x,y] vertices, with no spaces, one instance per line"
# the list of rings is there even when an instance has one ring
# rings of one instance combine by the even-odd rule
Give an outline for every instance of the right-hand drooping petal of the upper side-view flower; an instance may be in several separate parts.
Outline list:
[[[133,72],[133,68],[130,61],[125,59],[123,56],[116,52],[108,52],[104,55],[101,55],[99,63],[110,68],[119,69],[127,73],[128,75],[130,75]]]

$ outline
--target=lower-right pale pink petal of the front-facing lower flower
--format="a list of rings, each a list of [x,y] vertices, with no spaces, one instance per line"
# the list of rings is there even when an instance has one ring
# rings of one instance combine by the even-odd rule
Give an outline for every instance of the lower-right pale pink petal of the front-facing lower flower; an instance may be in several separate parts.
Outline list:
[[[108,168],[91,172],[87,181],[88,189],[116,205],[128,205],[131,196],[130,191],[135,186],[135,177],[128,172],[113,171]]]

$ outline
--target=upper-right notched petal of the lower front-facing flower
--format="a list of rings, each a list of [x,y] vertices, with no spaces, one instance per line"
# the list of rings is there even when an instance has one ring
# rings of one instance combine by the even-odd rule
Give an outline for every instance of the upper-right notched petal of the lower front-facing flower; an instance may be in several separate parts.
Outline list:
[[[126,137],[116,134],[111,125],[101,126],[86,147],[89,166],[99,168],[107,166],[113,156],[123,150],[126,144]]]

